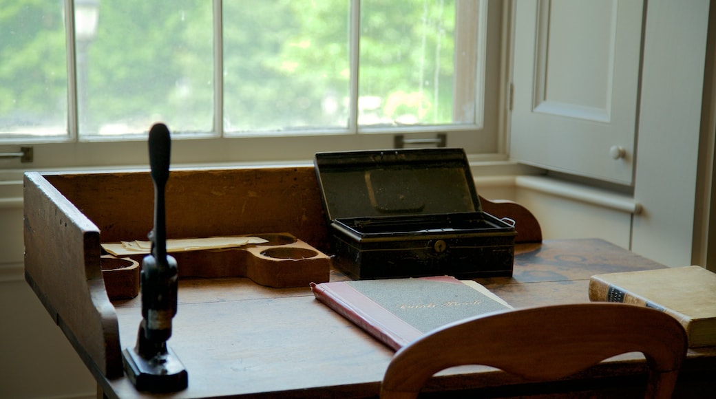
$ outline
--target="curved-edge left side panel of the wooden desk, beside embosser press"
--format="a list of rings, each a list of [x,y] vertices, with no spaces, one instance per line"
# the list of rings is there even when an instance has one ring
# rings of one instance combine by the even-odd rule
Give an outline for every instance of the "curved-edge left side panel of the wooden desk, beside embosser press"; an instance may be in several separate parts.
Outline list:
[[[100,266],[100,232],[42,175],[24,177],[25,277],[93,372],[122,375],[119,327]]]

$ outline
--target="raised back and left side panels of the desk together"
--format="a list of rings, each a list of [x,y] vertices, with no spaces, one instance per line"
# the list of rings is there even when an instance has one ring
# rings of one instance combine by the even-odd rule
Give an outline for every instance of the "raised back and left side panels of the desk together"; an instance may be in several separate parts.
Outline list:
[[[329,248],[312,167],[173,171],[168,237],[290,232]],[[122,375],[117,315],[100,243],[144,240],[153,227],[148,172],[26,174],[25,275],[94,373]]]

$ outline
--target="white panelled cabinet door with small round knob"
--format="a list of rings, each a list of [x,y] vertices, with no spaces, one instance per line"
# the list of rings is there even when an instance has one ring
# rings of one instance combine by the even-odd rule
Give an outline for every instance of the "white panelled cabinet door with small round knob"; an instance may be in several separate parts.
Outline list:
[[[513,159],[632,184],[643,6],[516,1]]]

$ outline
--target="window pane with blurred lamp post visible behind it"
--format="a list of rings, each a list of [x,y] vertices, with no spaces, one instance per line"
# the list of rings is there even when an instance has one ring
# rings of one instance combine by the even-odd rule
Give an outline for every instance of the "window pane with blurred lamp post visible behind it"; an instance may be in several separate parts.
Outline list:
[[[155,122],[174,134],[211,132],[212,2],[95,1],[95,30],[83,27],[86,3],[75,1],[80,137],[142,133]]]

